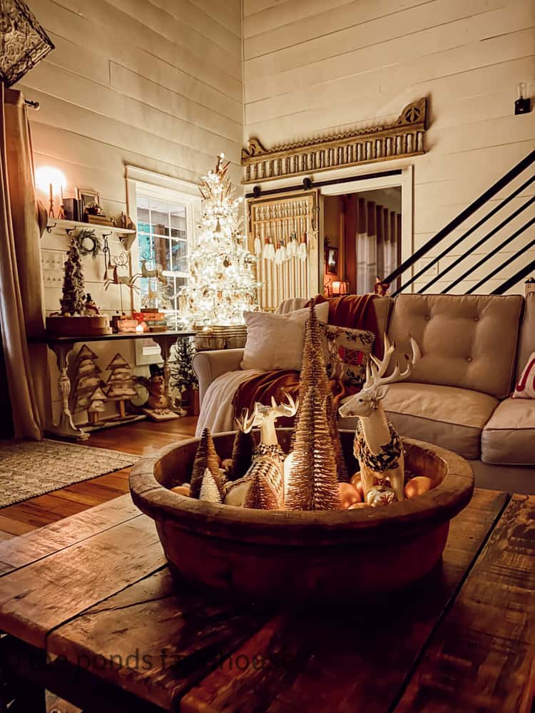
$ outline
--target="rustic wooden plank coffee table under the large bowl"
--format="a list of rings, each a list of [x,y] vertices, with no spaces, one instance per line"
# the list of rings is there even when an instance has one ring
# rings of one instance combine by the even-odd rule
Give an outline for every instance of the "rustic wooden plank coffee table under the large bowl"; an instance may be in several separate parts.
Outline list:
[[[442,564],[372,608],[229,604],[173,582],[130,496],[0,545],[0,710],[528,712],[535,497],[477,490]]]

